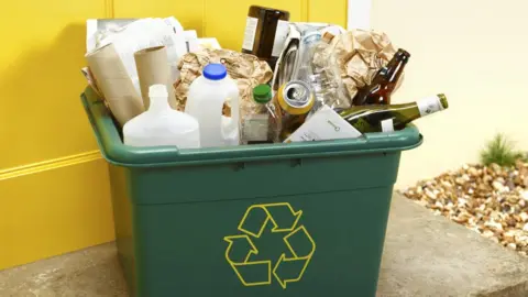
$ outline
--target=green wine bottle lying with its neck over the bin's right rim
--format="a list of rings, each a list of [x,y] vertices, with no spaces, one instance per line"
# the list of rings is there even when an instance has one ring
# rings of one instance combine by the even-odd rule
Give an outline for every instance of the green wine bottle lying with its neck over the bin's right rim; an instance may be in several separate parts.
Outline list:
[[[362,133],[404,129],[411,121],[448,108],[446,95],[427,97],[416,102],[388,106],[360,106],[339,112]]]

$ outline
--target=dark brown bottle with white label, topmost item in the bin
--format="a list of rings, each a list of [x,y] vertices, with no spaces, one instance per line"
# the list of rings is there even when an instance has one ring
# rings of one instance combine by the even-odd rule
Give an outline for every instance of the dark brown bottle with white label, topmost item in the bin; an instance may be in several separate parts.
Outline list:
[[[267,62],[272,70],[284,47],[288,34],[289,12],[251,6],[245,23],[242,53],[253,54]]]

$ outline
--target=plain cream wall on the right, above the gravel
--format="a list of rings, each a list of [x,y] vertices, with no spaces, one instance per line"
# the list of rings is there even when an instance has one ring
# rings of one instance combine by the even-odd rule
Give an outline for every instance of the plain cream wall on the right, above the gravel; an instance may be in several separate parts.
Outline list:
[[[416,122],[397,188],[476,162],[504,132],[528,151],[528,1],[373,0],[372,28],[411,53],[395,102],[446,92],[450,108]]]

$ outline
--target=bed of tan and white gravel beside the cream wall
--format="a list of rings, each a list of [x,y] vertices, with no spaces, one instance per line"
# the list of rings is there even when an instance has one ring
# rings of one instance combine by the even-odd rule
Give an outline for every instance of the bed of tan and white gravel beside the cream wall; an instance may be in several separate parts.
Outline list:
[[[528,163],[464,165],[400,191],[436,215],[528,254]]]

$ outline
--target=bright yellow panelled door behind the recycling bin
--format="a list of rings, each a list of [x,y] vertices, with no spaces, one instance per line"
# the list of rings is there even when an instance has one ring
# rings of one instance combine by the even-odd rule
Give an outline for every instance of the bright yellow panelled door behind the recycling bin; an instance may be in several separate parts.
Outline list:
[[[345,25],[345,0],[9,1],[0,10],[0,270],[113,240],[108,173],[79,102],[85,20],[175,15],[242,43],[250,4]],[[31,21],[31,22],[30,22]]]

